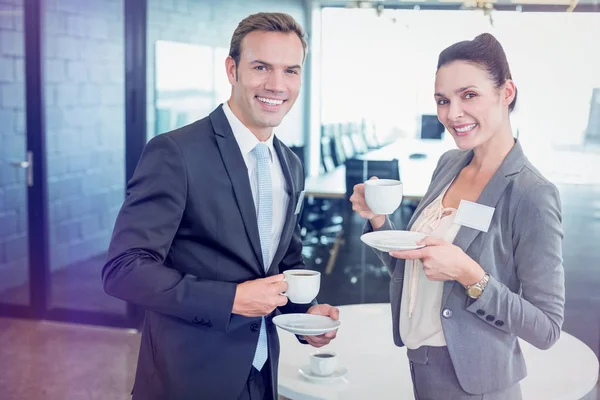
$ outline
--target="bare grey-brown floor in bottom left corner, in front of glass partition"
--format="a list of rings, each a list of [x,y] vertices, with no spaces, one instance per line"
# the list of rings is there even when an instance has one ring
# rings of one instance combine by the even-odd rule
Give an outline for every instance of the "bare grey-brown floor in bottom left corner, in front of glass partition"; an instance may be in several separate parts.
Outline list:
[[[0,398],[130,399],[139,342],[124,329],[0,318]]]

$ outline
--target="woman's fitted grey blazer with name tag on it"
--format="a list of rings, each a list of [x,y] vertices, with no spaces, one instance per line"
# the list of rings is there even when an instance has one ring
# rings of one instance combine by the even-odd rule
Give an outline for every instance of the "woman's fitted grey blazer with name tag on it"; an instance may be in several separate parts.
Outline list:
[[[442,155],[407,229],[472,158],[472,150]],[[477,203],[495,207],[488,232],[461,226],[453,243],[490,274],[490,281],[477,300],[460,283],[446,281],[440,310],[458,381],[472,394],[523,379],[527,370],[517,337],[550,348],[560,336],[565,303],[558,190],[531,165],[518,141]],[[367,222],[365,232],[371,229]],[[389,221],[380,230],[386,229],[394,229]],[[404,260],[376,253],[392,276],[394,342],[404,346],[399,328]]]

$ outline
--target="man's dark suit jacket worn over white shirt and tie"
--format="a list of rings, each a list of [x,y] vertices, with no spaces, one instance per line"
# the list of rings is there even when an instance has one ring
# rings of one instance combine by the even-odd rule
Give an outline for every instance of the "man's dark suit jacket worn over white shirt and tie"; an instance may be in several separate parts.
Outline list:
[[[300,160],[277,138],[290,201],[265,273],[248,172],[222,106],[154,137],[127,186],[102,271],[105,291],[146,309],[134,399],[237,399],[260,318],[231,313],[238,283],[303,268]],[[288,303],[281,312],[306,312]],[[279,339],[266,318],[277,393]],[[275,397],[274,397],[275,398]]]

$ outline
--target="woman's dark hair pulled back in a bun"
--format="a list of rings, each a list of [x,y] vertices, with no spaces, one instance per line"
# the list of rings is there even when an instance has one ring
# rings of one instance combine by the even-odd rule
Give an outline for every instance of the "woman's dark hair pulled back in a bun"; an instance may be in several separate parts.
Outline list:
[[[502,86],[507,79],[512,79],[504,49],[500,42],[489,33],[482,33],[473,40],[454,43],[444,49],[438,58],[437,69],[439,70],[453,61],[467,61],[478,64],[490,74],[497,88]],[[515,98],[508,106],[508,110],[514,110],[516,104],[517,89],[515,87]]]

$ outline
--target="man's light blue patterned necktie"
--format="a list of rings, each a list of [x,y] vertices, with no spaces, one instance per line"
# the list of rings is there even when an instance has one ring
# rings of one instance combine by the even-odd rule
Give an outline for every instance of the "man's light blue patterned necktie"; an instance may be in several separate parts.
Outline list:
[[[265,272],[269,269],[269,250],[271,249],[271,229],[273,220],[273,186],[271,185],[271,157],[269,148],[264,143],[259,143],[252,149],[252,155],[256,159],[256,179],[258,188],[258,235],[260,237],[260,249],[265,265]],[[267,329],[264,317],[260,324],[258,344],[254,353],[252,365],[261,370],[269,354],[267,342]]]

